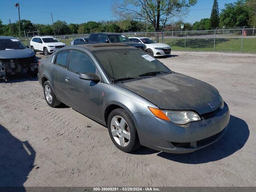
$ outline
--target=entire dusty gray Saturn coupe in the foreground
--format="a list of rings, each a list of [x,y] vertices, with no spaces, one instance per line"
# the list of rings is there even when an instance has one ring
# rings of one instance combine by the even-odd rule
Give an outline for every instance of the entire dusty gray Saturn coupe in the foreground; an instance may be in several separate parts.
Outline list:
[[[193,152],[222,137],[230,119],[216,88],[125,44],[62,48],[40,61],[38,80],[49,106],[106,125],[124,152]]]

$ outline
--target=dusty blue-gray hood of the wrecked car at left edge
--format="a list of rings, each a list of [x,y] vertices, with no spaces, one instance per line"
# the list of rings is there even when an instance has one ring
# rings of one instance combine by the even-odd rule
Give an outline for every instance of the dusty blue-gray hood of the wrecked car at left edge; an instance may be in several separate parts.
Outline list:
[[[0,50],[0,59],[18,59],[32,57],[35,53],[31,49]]]

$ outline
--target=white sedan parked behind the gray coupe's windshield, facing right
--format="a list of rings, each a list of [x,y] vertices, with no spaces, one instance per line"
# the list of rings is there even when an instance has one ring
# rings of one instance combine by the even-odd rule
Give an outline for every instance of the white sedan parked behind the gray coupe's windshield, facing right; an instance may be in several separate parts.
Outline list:
[[[129,38],[132,42],[137,42],[146,45],[148,54],[151,56],[164,56],[171,54],[170,45],[157,43],[156,41],[146,37],[131,37]]]

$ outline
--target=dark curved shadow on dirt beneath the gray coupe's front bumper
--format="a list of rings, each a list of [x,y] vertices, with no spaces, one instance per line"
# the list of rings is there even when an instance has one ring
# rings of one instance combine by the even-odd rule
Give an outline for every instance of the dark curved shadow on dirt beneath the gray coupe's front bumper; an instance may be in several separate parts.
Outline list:
[[[216,143],[192,153],[170,154],[160,152],[157,156],[186,164],[217,161],[240,150],[248,140],[249,134],[250,131],[246,122],[231,115],[228,130]]]

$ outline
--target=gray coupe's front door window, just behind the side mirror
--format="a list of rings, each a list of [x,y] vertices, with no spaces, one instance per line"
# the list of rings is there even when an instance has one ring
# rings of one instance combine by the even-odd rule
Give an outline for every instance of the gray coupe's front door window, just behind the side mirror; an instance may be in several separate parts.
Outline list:
[[[76,73],[95,73],[96,67],[88,55],[80,51],[72,51],[69,69]]]

